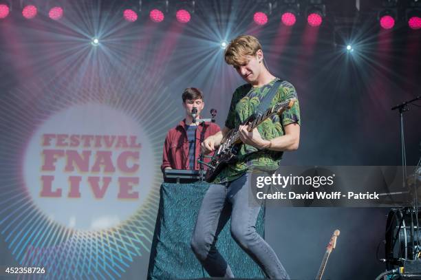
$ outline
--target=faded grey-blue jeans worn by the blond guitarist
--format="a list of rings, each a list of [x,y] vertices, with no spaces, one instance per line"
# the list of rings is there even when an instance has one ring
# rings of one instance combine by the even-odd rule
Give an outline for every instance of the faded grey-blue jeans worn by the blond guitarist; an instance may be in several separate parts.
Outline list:
[[[261,206],[250,204],[250,173],[233,182],[211,184],[204,196],[195,225],[191,248],[211,277],[230,277],[233,272],[215,244],[231,217],[231,235],[270,279],[290,279],[274,250],[256,232]]]

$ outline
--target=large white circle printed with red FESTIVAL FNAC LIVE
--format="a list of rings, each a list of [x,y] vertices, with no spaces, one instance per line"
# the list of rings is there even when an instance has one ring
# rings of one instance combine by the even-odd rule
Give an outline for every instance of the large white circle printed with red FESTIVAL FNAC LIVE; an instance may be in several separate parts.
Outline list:
[[[73,105],[28,142],[25,186],[36,207],[67,228],[102,230],[136,213],[153,186],[153,147],[138,121],[108,105]]]

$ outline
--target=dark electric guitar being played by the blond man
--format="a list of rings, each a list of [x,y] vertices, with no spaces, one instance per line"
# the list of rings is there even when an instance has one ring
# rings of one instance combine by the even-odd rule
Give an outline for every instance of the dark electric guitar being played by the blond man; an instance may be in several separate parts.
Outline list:
[[[294,105],[296,98],[290,98],[285,100],[274,107],[266,110],[266,112],[262,115],[252,115],[247,120],[245,120],[241,125],[248,125],[247,130],[251,132],[255,127],[261,124],[264,120],[269,118],[274,114],[281,114],[286,109],[290,109],[292,105]],[[215,152],[210,160],[209,163],[204,163],[200,161],[200,163],[205,164],[208,166],[208,170],[204,176],[206,182],[210,183],[213,182],[215,177],[224,169],[226,164],[233,163],[237,160],[237,153],[239,150],[239,146],[241,144],[241,139],[239,138],[239,131],[237,129],[231,129],[228,131],[226,136],[222,139],[219,148]]]

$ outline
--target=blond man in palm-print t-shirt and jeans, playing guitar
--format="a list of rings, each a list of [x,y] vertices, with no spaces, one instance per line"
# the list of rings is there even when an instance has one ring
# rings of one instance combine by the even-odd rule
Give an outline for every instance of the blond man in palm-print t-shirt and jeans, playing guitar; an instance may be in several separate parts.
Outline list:
[[[298,100],[288,111],[266,119],[256,129],[248,131],[244,121],[255,114],[259,104],[270,92],[270,106],[288,98],[296,98],[294,87],[276,78],[263,63],[263,51],[254,36],[241,35],[226,47],[225,61],[233,65],[247,84],[238,87],[231,100],[228,117],[222,131],[202,143],[203,153],[219,147],[230,129],[239,129],[241,144],[237,161],[227,164],[210,185],[197,217],[191,247],[197,259],[211,277],[234,277],[228,263],[215,247],[217,235],[231,217],[231,233],[237,244],[250,255],[271,279],[289,279],[274,250],[256,233],[255,225],[261,206],[248,200],[250,171],[274,172],[279,167],[283,151],[299,147],[300,115]],[[272,87],[277,87],[271,90]],[[268,95],[270,96],[270,95]],[[268,108],[264,108],[265,110]]]

